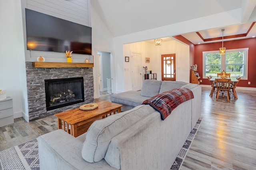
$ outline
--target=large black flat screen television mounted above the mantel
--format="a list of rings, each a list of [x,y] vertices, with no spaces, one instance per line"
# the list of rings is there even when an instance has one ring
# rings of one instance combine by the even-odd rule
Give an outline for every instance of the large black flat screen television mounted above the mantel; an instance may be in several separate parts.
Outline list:
[[[27,49],[92,55],[92,28],[26,9]]]

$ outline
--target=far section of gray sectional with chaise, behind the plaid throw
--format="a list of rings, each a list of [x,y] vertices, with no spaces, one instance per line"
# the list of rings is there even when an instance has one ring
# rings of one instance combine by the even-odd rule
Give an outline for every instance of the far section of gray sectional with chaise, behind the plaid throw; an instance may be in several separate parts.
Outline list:
[[[145,100],[168,92],[174,88],[188,88],[194,94],[192,100],[192,125],[193,128],[196,125],[196,121],[201,114],[201,107],[198,107],[198,103],[201,104],[201,91],[202,87],[197,84],[179,82],[179,81],[161,81],[161,80],[144,80],[142,83],[141,91],[127,91],[118,94],[112,94],[110,100],[112,103],[122,104],[121,111],[130,110],[136,106],[140,106]],[[201,106],[201,105],[199,105]]]

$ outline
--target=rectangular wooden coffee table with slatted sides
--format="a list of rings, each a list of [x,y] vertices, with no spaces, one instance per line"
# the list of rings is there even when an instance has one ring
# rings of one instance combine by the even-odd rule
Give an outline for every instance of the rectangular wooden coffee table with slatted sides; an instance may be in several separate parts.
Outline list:
[[[97,102],[98,108],[80,110],[79,108],[54,114],[58,118],[58,129],[63,129],[70,135],[78,137],[85,133],[93,121],[102,119],[111,113],[121,112],[122,105],[111,102]]]

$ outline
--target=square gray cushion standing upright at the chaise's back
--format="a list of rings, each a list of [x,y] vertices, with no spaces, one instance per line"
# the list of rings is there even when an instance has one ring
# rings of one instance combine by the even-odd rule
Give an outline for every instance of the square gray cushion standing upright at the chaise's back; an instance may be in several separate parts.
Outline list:
[[[159,94],[162,81],[144,80],[141,88],[141,96],[153,97]]]

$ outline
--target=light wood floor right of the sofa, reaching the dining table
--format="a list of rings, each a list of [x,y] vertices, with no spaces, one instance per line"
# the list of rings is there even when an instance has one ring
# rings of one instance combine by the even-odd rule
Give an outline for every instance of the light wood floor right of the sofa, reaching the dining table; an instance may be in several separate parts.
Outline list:
[[[202,88],[200,128],[181,170],[256,170],[256,91],[237,90],[238,100]]]

